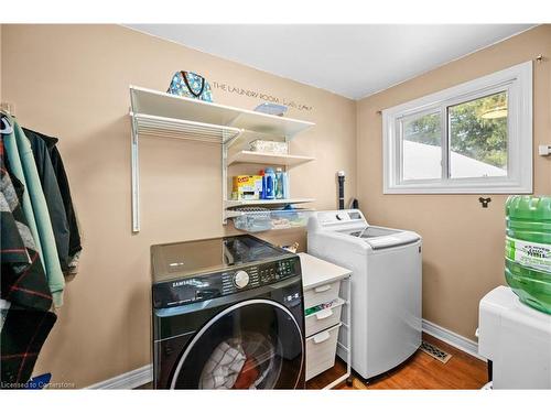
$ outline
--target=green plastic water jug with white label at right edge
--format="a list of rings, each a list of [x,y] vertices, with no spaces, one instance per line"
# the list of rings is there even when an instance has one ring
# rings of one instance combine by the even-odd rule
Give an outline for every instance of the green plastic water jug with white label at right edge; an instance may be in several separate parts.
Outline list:
[[[551,314],[551,196],[506,203],[505,279],[520,301]]]

